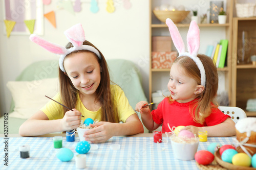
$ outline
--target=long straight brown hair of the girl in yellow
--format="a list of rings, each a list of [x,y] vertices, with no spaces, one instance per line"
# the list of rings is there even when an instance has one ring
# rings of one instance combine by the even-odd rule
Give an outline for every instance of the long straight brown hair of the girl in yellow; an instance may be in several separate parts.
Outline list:
[[[90,45],[96,48],[91,42],[84,41],[83,45]],[[66,48],[69,49],[73,47],[72,43],[68,43],[66,45]],[[96,48],[98,50],[98,48]],[[99,50],[98,50],[99,51]],[[83,52],[90,52],[87,50],[79,50],[74,51],[73,53],[83,53]],[[91,52],[93,53],[93,52]],[[106,63],[106,60],[102,53],[99,51],[101,55],[101,59],[99,59],[96,55],[97,61],[101,68],[101,79],[100,84],[95,91],[97,97],[96,101],[99,101],[101,104],[101,121],[105,122],[112,122],[112,123],[118,123],[119,116],[116,109],[116,104],[114,103],[114,95],[111,93],[110,88],[110,75],[109,75],[109,69],[108,64]],[[94,53],[93,53],[94,54]],[[66,56],[68,57],[68,55]],[[59,82],[60,82],[60,96],[63,105],[66,105],[69,108],[75,108],[76,102],[77,102],[77,93],[78,90],[74,87],[72,84],[70,78],[65,74],[65,72],[61,71],[59,68]],[[65,113],[68,111],[68,109],[65,109]],[[63,113],[63,114],[65,114]]]

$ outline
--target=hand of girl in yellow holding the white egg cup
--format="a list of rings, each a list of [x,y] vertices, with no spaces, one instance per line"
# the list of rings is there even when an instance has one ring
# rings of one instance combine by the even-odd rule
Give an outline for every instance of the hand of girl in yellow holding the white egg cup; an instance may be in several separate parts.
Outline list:
[[[84,132],[83,137],[92,143],[101,143],[114,136],[115,124],[110,122],[99,122],[91,124],[93,129]],[[96,127],[96,128],[94,128]]]

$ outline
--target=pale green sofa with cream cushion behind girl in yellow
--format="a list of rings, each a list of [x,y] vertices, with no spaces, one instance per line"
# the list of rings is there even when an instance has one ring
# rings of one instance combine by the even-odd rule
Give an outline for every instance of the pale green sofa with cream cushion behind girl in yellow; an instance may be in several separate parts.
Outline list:
[[[106,60],[109,66],[111,81],[124,91],[130,105],[135,108],[139,101],[147,101],[144,94],[139,67],[128,60]],[[7,83],[12,94],[8,113],[8,133],[17,134],[20,125],[32,114],[44,106],[58,92],[58,61],[38,61],[27,66],[15,81]],[[137,113],[141,120],[141,116]],[[0,118],[1,124],[4,116]],[[0,127],[0,134],[4,126]],[[144,127],[144,133],[148,130]]]

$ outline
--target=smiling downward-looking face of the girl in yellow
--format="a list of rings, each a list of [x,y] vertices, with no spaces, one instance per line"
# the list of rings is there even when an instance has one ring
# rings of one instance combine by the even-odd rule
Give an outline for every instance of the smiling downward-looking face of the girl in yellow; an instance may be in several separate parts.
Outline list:
[[[73,85],[84,96],[94,95],[100,84],[100,65],[92,52],[79,52],[67,56],[63,66]]]

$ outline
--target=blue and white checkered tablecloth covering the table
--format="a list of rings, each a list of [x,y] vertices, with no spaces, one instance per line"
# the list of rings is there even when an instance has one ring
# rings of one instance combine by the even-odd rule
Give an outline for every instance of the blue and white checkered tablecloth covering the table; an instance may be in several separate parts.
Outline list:
[[[53,137],[10,137],[8,152],[4,152],[5,138],[0,138],[0,169],[76,169],[75,157],[69,162],[61,162],[53,148]],[[174,158],[170,140],[154,143],[153,137],[112,137],[105,143],[98,143],[97,150],[87,155],[86,169],[198,169],[195,160],[182,161]],[[207,142],[199,143],[199,150],[207,150],[211,142],[232,143],[232,137],[208,137]],[[75,142],[67,142],[63,137],[63,147],[75,152]],[[30,158],[20,158],[19,146],[30,145]],[[120,144],[120,150],[112,150],[112,144]],[[4,165],[4,156],[8,153],[8,166]]]

